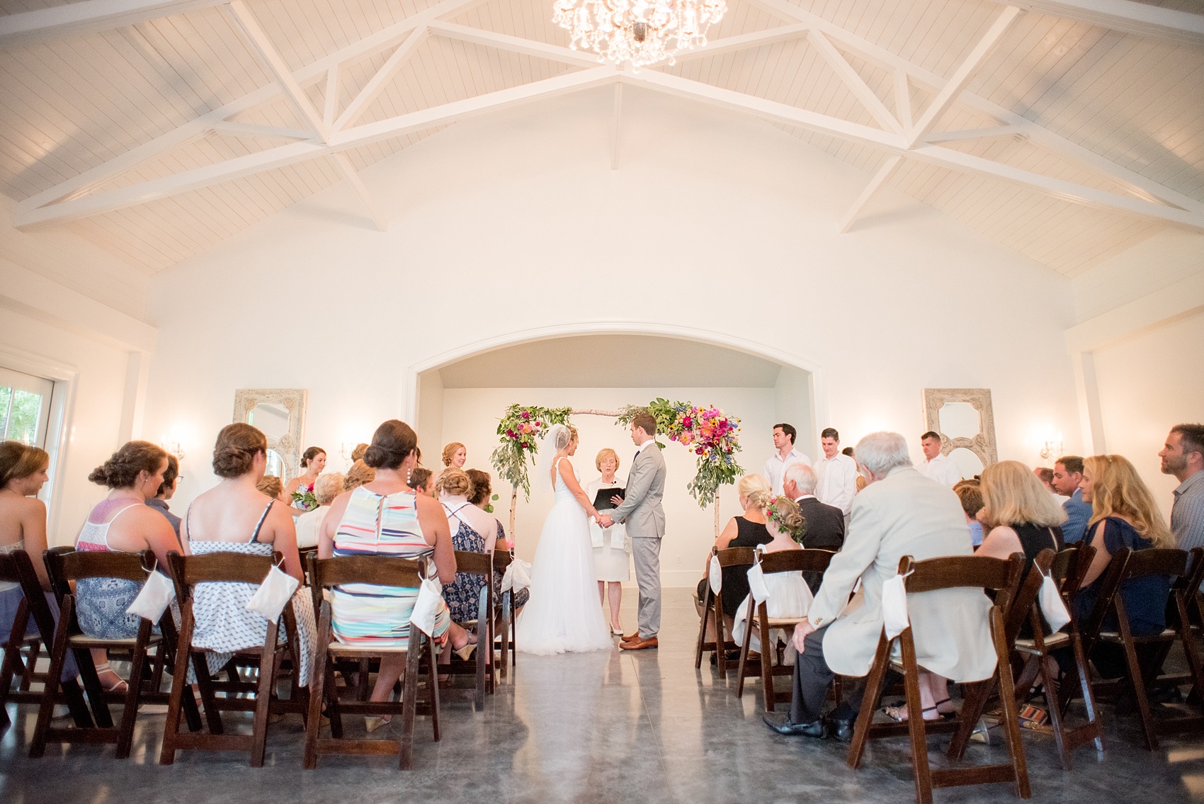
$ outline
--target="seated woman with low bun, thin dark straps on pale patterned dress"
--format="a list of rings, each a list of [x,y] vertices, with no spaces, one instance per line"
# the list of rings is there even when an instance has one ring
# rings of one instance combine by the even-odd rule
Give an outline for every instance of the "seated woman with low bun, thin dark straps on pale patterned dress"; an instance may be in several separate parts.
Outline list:
[[[248,424],[226,425],[213,445],[213,473],[220,481],[201,493],[184,512],[184,555],[237,552],[246,556],[284,556],[284,572],[305,583],[297,552],[296,526],[287,503],[259,490],[267,468],[267,437]],[[267,619],[248,610],[247,603],[258,584],[206,583],[193,592],[196,626],[193,645],[214,654],[209,668],[223,656],[244,648],[256,648],[267,638]],[[309,668],[317,642],[313,601],[308,590],[293,596],[296,615],[301,685],[309,684]]]

